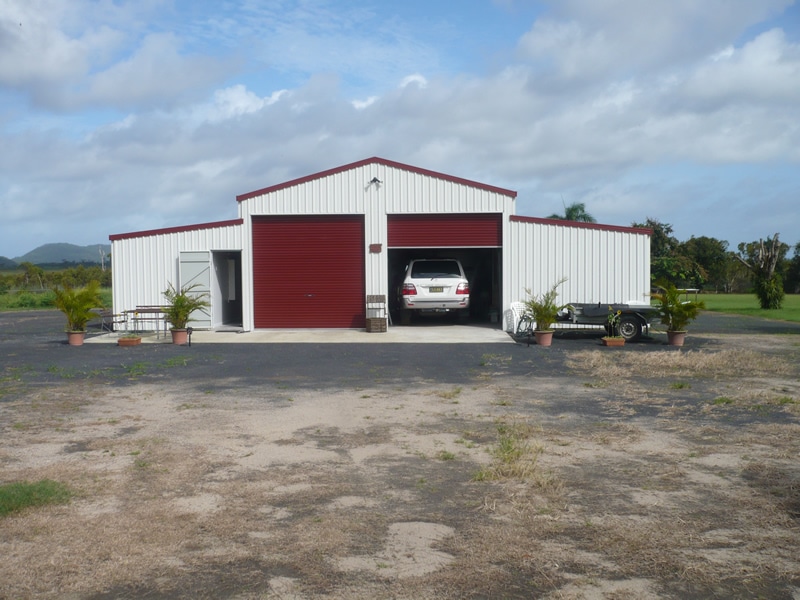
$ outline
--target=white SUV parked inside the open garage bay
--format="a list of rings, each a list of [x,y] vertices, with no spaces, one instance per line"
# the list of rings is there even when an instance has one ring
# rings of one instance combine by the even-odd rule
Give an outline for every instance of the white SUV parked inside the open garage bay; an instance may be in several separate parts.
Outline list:
[[[466,319],[469,282],[461,263],[454,258],[412,260],[400,288],[400,308],[404,312],[459,311],[459,317]]]

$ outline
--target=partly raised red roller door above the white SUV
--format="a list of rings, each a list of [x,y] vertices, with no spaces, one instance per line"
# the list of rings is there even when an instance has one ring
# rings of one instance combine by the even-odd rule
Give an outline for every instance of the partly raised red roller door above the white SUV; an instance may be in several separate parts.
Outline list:
[[[389,215],[390,248],[498,248],[499,213]]]

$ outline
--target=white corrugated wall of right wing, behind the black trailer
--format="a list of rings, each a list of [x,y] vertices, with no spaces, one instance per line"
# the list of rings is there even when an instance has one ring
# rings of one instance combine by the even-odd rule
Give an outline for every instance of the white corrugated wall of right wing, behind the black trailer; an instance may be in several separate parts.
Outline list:
[[[624,228],[511,221],[506,300],[547,291],[562,277],[559,301],[649,302],[650,236]]]

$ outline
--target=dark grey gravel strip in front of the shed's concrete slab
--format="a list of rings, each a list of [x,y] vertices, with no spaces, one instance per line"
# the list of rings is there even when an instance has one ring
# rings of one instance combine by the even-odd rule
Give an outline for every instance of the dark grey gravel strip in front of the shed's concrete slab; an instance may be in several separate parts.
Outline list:
[[[800,333],[800,324],[749,317],[703,313],[692,326],[685,350],[713,347],[714,334]],[[89,335],[97,332],[90,330]],[[665,350],[666,336],[653,333],[625,352]],[[13,369],[27,382],[55,382],[65,374],[108,378],[118,385],[131,370],[138,380],[161,378],[183,361],[181,379],[187,386],[207,387],[221,378],[243,383],[286,380],[294,385],[352,385],[359,380],[403,382],[432,380],[463,383],[485,362],[487,355],[508,360],[508,375],[565,374],[565,361],[578,350],[596,348],[597,332],[561,333],[551,348],[520,344],[143,344],[118,348],[87,344],[66,345],[63,316],[58,311],[0,313],[0,360],[5,370]],[[146,367],[146,368],[145,368]]]

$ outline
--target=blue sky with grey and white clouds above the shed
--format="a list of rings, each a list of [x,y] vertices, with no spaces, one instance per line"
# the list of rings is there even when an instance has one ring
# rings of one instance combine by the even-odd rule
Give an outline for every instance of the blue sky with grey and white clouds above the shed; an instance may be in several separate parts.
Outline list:
[[[800,241],[792,0],[0,0],[0,255],[381,156],[734,249]]]

